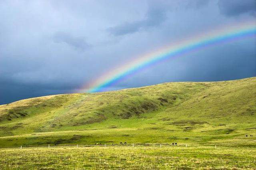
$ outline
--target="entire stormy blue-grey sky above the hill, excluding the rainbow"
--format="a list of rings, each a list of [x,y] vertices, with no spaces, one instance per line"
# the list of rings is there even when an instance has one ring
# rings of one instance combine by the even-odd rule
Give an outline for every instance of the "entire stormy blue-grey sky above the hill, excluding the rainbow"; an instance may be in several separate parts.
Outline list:
[[[77,93],[140,55],[249,20],[256,25],[256,0],[1,0],[0,104]],[[168,59],[105,90],[254,76],[255,37]]]

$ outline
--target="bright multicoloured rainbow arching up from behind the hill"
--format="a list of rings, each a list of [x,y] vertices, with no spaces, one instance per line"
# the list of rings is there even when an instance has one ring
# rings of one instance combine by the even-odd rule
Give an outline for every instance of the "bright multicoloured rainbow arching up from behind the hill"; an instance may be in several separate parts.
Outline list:
[[[255,38],[255,36],[255,21],[214,29],[210,32],[169,44],[162,49],[137,57],[135,60],[126,63],[122,67],[113,69],[100,76],[95,81],[86,84],[82,89],[90,93],[105,91],[106,88],[117,84],[128,76],[171,57],[184,56],[185,54],[204,49],[205,47],[224,42],[232,42],[242,38]]]

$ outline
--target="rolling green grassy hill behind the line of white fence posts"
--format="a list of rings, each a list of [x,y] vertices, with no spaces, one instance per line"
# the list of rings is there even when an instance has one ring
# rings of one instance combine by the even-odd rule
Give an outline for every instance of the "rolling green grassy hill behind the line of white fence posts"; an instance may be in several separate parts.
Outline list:
[[[0,147],[119,142],[256,146],[256,77],[0,105]]]

